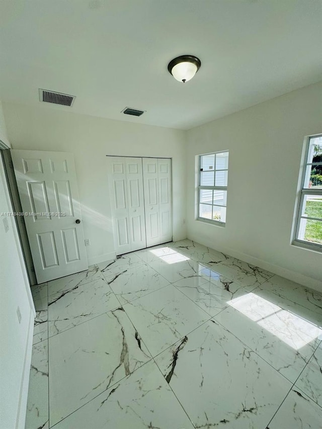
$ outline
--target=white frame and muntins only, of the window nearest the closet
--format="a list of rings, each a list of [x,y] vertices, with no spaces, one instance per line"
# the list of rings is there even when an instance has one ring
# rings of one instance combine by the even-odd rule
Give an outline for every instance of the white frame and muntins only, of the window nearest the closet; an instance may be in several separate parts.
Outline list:
[[[225,153],[228,152],[228,165],[227,168],[223,168],[223,169],[216,169],[216,155],[217,153]],[[204,186],[201,185],[201,157],[205,156],[205,155],[215,155],[215,159],[214,159],[214,186]],[[212,191],[226,191],[226,196],[228,195],[228,170],[229,170],[229,150],[218,150],[217,152],[208,152],[208,153],[201,153],[200,155],[198,155],[198,214],[197,214],[197,220],[201,221],[201,222],[206,222],[206,223],[210,223],[213,225],[219,225],[219,226],[225,226],[226,225],[226,220],[223,222],[221,220],[215,220],[215,219],[208,219],[208,218],[204,218],[200,216],[200,204],[205,204],[200,202],[200,195],[201,195],[201,190],[205,189],[205,190],[212,190]],[[215,186],[215,177],[216,177],[216,171],[227,171],[227,186]],[[212,204],[209,204],[209,206],[211,205],[212,207],[212,212],[211,212],[211,217],[213,216],[213,207],[217,206],[217,207],[225,207],[226,208],[226,216],[227,216],[227,198],[226,198],[226,205],[216,205],[213,204],[213,194],[212,194]]]

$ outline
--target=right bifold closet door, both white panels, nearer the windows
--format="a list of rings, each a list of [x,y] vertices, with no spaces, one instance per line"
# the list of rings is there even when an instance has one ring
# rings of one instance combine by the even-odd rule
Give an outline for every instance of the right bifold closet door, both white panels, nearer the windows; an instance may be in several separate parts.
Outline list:
[[[146,245],[172,240],[171,159],[143,158]]]

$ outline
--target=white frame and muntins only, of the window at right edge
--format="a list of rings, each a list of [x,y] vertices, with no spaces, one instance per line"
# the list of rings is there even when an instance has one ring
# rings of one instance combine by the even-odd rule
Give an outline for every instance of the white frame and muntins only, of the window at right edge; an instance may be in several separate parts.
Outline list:
[[[307,240],[302,240],[302,239],[298,238],[302,218],[307,219],[307,220],[321,221],[320,218],[307,217],[307,216],[303,216],[303,214],[302,214],[304,198],[306,195],[319,195],[322,197],[322,188],[314,189],[314,188],[305,188],[304,187],[307,166],[313,165],[313,164],[314,165],[322,165],[322,162],[308,162],[308,154],[309,154],[311,139],[314,139],[316,137],[322,137],[322,134],[310,135],[305,139],[305,146],[306,147],[305,147],[303,169],[301,172],[302,177],[301,177],[301,182],[300,182],[299,202],[298,202],[298,208],[297,208],[297,212],[296,212],[296,225],[295,225],[293,244],[300,246],[300,247],[303,247],[303,248],[306,248],[306,249],[322,252],[322,243],[319,244],[319,243],[315,243],[315,242],[307,241]]]

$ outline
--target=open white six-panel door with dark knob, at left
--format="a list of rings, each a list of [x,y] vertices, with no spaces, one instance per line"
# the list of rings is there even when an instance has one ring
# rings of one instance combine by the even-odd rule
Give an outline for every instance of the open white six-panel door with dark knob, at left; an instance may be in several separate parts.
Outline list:
[[[11,150],[38,283],[88,268],[72,153]]]

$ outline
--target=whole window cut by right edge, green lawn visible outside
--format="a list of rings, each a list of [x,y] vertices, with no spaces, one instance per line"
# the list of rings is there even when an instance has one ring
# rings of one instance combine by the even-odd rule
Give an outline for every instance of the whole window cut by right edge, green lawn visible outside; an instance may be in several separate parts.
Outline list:
[[[322,135],[308,138],[301,186],[295,242],[322,250]]]

